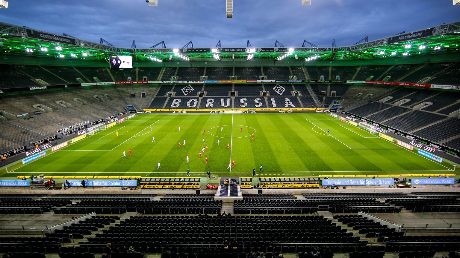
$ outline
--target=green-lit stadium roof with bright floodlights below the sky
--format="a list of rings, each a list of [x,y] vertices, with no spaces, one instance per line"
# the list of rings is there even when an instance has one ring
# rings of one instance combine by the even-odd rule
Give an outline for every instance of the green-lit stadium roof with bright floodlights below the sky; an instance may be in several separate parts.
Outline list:
[[[191,43],[191,41],[189,42]],[[307,42],[308,43],[308,42]],[[190,44],[187,44],[190,46]],[[56,35],[32,28],[0,22],[0,51],[20,56],[107,60],[109,55],[130,55],[138,62],[168,61],[277,61],[277,60],[354,60],[397,56],[433,55],[458,52],[460,21],[444,23],[410,33],[343,47],[286,48],[276,41],[273,48],[119,48],[101,43]]]

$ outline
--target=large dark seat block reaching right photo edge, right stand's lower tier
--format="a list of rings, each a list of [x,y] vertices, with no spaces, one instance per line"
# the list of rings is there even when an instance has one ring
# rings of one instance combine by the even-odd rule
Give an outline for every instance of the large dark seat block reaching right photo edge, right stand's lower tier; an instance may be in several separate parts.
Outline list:
[[[424,139],[440,142],[442,140],[449,139],[452,136],[460,135],[460,119],[449,118],[441,123],[436,123],[424,129],[415,131],[412,134]]]

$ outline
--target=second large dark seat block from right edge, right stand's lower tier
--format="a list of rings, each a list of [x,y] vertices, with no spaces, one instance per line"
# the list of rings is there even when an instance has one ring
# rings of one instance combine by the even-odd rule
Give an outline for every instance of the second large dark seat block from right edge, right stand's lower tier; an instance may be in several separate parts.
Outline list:
[[[385,124],[409,132],[445,118],[443,115],[414,110],[397,118],[390,119]]]

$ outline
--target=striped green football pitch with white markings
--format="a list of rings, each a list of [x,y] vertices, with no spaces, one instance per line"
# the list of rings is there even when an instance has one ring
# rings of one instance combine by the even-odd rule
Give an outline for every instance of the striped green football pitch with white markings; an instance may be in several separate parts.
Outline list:
[[[207,150],[199,158],[205,146]],[[123,151],[126,157],[122,157]],[[449,163],[437,163],[378,134],[316,113],[138,115],[58,151],[47,152],[25,165],[19,162],[8,166],[8,174],[3,169],[0,176],[44,173],[177,177],[184,176],[190,168],[191,176],[203,177],[209,170],[221,177],[251,176],[255,168],[256,176],[312,177],[441,174],[452,168]],[[235,165],[230,171],[227,167],[233,160]],[[159,162],[161,168],[157,168]]]

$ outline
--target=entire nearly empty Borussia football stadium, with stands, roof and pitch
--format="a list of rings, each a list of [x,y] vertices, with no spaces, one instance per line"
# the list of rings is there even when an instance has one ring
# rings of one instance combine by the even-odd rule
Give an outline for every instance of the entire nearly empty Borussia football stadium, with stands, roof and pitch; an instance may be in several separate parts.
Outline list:
[[[0,22],[0,253],[460,257],[459,45],[460,21],[182,48]]]

